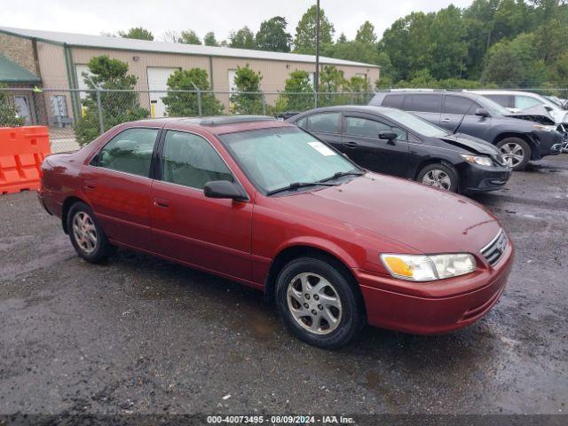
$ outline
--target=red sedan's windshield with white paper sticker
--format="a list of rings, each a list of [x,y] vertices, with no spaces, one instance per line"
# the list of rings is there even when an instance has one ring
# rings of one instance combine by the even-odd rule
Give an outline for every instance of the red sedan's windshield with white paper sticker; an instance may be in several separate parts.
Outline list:
[[[359,170],[342,154],[297,128],[249,130],[222,135],[220,139],[264,193]]]

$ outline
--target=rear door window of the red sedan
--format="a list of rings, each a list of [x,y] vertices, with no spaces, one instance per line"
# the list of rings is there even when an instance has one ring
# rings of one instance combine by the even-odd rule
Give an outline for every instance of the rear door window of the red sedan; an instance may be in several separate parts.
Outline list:
[[[157,129],[124,130],[103,146],[91,165],[149,177]]]

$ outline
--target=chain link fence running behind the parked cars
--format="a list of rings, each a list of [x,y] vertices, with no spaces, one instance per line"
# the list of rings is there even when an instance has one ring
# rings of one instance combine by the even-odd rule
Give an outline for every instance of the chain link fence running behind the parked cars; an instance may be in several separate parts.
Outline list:
[[[568,98],[568,89],[535,88]],[[4,96],[3,96],[4,95]],[[130,91],[0,88],[0,112],[49,127],[51,150],[75,151],[121,122],[144,118],[264,114],[286,118],[316,106],[367,105],[374,92]]]

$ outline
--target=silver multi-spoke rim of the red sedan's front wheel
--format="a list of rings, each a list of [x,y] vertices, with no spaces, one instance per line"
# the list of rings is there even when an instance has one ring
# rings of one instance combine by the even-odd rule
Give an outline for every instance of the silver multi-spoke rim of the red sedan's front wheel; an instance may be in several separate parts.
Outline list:
[[[287,299],[296,322],[315,335],[327,335],[341,322],[343,309],[339,295],[334,286],[317,273],[296,275],[288,284]]]

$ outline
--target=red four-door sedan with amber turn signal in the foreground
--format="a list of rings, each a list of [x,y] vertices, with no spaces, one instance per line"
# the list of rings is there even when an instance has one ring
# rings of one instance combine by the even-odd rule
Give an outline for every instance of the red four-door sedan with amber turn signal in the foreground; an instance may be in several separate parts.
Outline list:
[[[40,201],[79,256],[116,247],[258,288],[323,348],[366,324],[467,326],[505,287],[513,246],[466,198],[361,170],[285,122],[129,122],[43,162]]]

